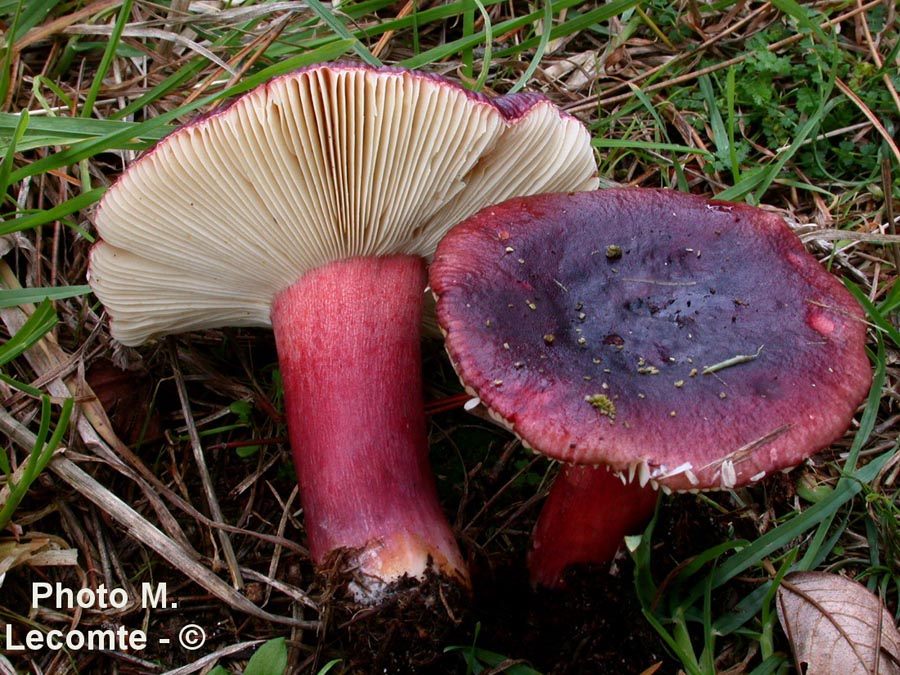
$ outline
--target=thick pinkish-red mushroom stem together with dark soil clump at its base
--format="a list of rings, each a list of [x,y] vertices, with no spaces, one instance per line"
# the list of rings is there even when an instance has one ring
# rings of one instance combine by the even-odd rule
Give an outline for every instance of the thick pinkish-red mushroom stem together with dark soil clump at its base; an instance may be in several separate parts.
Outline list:
[[[428,462],[425,285],[418,257],[350,258],[304,274],[272,310],[325,630],[359,673],[425,672],[467,604]]]

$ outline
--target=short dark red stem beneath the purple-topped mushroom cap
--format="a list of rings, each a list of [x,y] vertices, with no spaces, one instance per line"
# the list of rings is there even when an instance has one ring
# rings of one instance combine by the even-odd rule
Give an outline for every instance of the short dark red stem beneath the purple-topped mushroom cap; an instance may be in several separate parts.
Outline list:
[[[564,466],[532,534],[531,583],[563,588],[568,566],[612,560],[622,538],[653,516],[656,496],[650,486],[623,484],[603,467]]]

